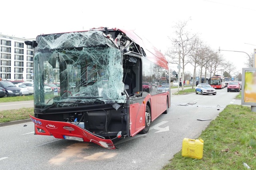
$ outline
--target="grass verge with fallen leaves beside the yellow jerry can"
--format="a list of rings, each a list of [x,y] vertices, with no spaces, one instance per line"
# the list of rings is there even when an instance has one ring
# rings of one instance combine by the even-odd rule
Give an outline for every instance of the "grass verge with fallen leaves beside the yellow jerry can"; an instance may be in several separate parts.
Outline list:
[[[174,155],[162,170],[256,169],[256,113],[250,106],[228,105],[198,137],[204,140],[203,158]]]

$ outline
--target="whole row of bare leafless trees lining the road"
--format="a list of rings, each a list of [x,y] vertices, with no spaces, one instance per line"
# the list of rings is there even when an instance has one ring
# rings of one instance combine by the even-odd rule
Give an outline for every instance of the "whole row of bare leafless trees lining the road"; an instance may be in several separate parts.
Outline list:
[[[189,20],[188,20],[189,21]],[[196,33],[190,33],[186,31],[188,21],[178,21],[174,25],[174,36],[169,37],[172,45],[168,48],[165,55],[168,57],[168,61],[172,64],[179,64],[179,54],[180,54],[180,66],[182,68],[182,75],[185,75],[185,68],[187,64],[191,64],[194,67],[193,72],[193,85],[196,77],[196,68],[200,70],[200,78],[206,77],[206,75],[213,76],[217,72],[221,72],[222,75],[228,75],[229,77],[233,74],[239,72],[236,71],[236,67],[230,61],[223,59],[223,56],[218,50],[213,50],[203,42]],[[253,65],[253,54],[252,57],[248,56],[246,62],[248,67]],[[242,75],[241,75],[242,76]],[[182,77],[182,82],[184,77]],[[182,90],[184,89],[184,84],[182,83]]]

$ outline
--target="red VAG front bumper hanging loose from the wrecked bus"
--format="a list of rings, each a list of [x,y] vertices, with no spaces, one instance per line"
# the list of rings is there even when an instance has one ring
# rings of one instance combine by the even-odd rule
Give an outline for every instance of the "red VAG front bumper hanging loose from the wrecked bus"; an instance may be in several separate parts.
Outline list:
[[[52,135],[58,139],[93,142],[107,149],[116,149],[110,139],[95,135],[86,129],[68,122],[38,119],[30,115],[35,124],[36,135]]]

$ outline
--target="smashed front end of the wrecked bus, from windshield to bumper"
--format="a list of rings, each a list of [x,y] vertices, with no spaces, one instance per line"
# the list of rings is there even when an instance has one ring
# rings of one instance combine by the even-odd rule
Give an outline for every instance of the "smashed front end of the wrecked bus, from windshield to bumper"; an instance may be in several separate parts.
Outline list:
[[[90,30],[39,35],[36,43],[31,120],[37,135],[108,149],[115,149],[113,139],[130,136],[120,38]]]

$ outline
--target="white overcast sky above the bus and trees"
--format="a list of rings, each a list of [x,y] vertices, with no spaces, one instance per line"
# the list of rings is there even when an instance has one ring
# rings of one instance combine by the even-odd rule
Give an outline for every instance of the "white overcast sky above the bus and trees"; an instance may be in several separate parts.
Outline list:
[[[168,37],[174,36],[176,22],[191,18],[188,31],[198,33],[213,50],[245,52],[220,52],[239,72],[246,53],[256,48],[255,0],[5,0],[0,11],[2,34],[36,38],[42,33],[121,27],[142,33],[162,52],[170,47]]]

